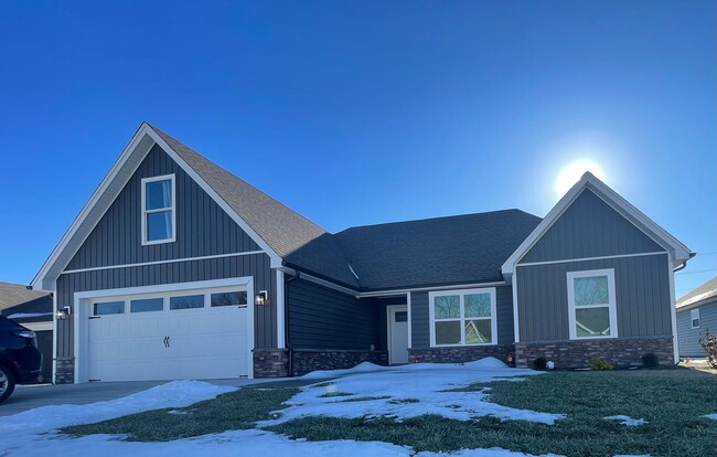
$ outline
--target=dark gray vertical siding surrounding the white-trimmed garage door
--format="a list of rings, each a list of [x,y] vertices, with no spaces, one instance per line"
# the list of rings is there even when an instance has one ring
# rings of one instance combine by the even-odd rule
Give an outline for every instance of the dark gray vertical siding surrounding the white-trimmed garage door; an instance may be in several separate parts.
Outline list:
[[[255,307],[255,341],[257,348],[274,348],[277,341],[274,299],[277,297],[277,285],[276,274],[266,254],[63,274],[57,279],[57,306],[74,306],[74,294],[78,291],[246,276],[254,277],[256,291],[269,291],[269,304]],[[249,297],[249,302],[253,302],[253,297]],[[73,357],[73,319],[57,321],[57,357]]]

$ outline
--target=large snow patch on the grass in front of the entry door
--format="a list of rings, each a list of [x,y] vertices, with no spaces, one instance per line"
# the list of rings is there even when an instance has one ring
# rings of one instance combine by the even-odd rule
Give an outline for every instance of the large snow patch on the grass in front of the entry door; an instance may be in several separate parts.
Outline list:
[[[533,370],[511,369],[503,362],[486,358],[464,364],[417,363],[403,366],[377,366],[362,363],[353,371],[342,370],[340,378],[325,383],[302,387],[290,398],[290,407],[278,413],[280,417],[260,425],[280,424],[299,417],[376,417],[394,416],[397,419],[438,414],[458,421],[480,416],[501,419],[523,419],[554,424],[563,414],[515,410],[489,403],[488,392],[446,392],[477,382],[490,382],[500,378],[539,374]],[[308,379],[325,378],[324,373],[311,373]],[[351,394],[351,395],[344,395]],[[360,401],[361,398],[368,398]]]

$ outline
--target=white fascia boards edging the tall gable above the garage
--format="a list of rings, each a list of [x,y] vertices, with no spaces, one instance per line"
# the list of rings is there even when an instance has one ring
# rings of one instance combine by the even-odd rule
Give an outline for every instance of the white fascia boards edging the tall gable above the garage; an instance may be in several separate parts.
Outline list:
[[[153,142],[151,145],[145,144],[141,151],[138,150],[139,146],[142,144],[142,140],[148,137]],[[147,142],[147,141],[146,141]],[[62,273],[62,269],[66,264],[72,259],[72,255],[82,246],[82,244],[87,240],[87,236],[92,233],[92,230],[95,227],[97,222],[103,217],[107,209],[111,205],[115,198],[121,192],[121,190],[127,184],[127,181],[135,174],[137,168],[141,164],[142,160],[147,153],[151,150],[152,146],[159,145],[164,152],[167,152],[196,183],[207,193],[216,203],[236,222],[242,230],[244,230],[259,246],[265,251],[271,261],[271,267],[277,268],[281,266],[281,257],[269,247],[269,245],[248,224],[239,217],[239,215],[224,201],[220,198],[218,194],[212,189],[206,181],[204,181],[170,146],[152,129],[149,124],[142,123],[142,125],[137,129],[130,141],[127,144],[121,155],[109,170],[105,179],[97,187],[95,192],[92,194],[85,206],[82,209],[77,217],[73,221],[69,228],[65,232],[63,237],[60,240],[60,243],[52,251],[43,266],[40,268],[35,277],[32,279],[31,285],[34,290],[46,290],[54,291],[55,280]],[[141,153],[141,160],[135,160],[131,166],[131,170],[126,170],[128,167],[128,161],[137,152]],[[125,171],[126,180],[124,182],[115,182],[117,177]],[[114,184],[114,185],[113,185]],[[100,208],[101,211],[94,211],[98,205],[101,198],[113,189],[113,195],[110,199],[106,199],[105,208]],[[93,215],[93,219],[96,219],[94,223],[85,226],[85,222],[88,216]],[[81,227],[85,227],[86,233],[78,234]],[[82,236],[76,236],[82,235]],[[66,258],[64,265],[58,265],[60,257],[67,249],[72,251],[72,255]]]

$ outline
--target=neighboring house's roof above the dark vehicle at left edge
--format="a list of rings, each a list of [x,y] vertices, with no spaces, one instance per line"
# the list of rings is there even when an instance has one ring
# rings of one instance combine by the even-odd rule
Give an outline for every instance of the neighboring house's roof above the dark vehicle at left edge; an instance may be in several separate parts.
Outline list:
[[[52,295],[21,284],[0,283],[0,313],[24,322],[52,320]]]

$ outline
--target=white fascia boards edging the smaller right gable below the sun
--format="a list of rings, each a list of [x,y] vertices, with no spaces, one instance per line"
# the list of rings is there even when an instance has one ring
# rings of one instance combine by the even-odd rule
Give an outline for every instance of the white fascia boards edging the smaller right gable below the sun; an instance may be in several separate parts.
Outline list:
[[[633,206],[619,193],[610,189],[606,183],[597,179],[592,173],[587,172],[582,174],[578,181],[547,213],[545,219],[535,227],[523,243],[515,249],[515,252],[505,261],[501,270],[509,280],[513,273],[513,266],[541,240],[541,237],[557,222],[563,213],[577,200],[577,198],[589,189],[593,193],[610,205],[613,210],[618,211],[623,217],[632,223],[638,230],[645,233],[655,243],[663,246],[673,262],[682,263],[689,259],[691,251],[687,246],[682,244],[677,238],[667,233],[664,228],[657,225],[654,221],[648,217],[644,213]],[[627,216],[625,216],[627,215]],[[629,217],[628,217],[629,216]],[[636,223],[635,223],[636,222]],[[640,226],[642,225],[642,226]],[[646,228],[646,231],[645,231]],[[649,233],[652,232],[652,233]]]

